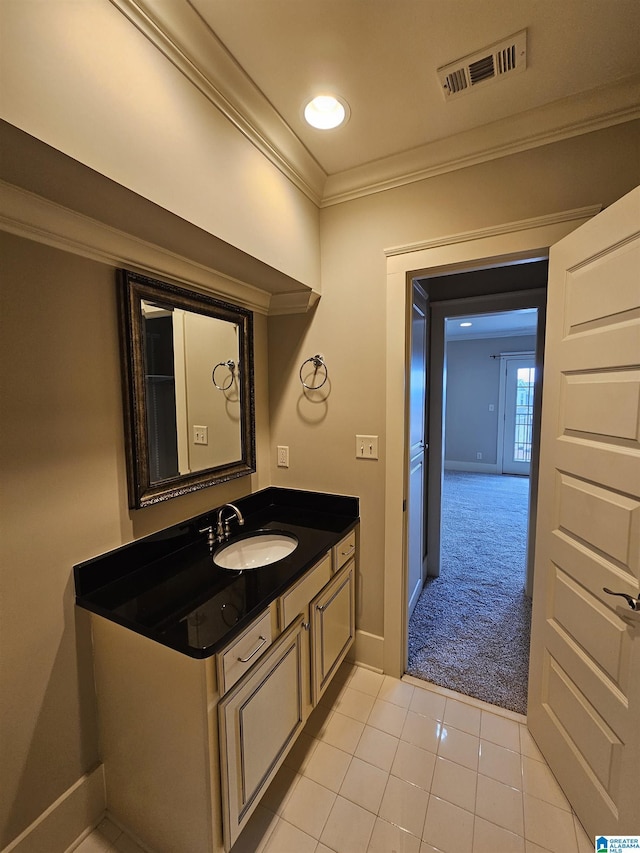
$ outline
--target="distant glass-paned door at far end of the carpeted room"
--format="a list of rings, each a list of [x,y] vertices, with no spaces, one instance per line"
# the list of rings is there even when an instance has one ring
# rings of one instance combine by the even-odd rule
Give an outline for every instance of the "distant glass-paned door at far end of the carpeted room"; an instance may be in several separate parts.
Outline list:
[[[533,443],[533,356],[505,359],[502,473],[529,476]]]

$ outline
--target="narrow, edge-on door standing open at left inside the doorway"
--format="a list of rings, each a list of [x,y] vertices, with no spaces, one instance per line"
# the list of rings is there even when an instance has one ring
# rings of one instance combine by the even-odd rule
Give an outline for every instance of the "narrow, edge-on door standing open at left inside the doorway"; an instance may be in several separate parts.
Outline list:
[[[409,380],[408,611],[411,617],[424,584],[425,551],[425,403],[427,382],[427,297],[413,285],[411,373]]]

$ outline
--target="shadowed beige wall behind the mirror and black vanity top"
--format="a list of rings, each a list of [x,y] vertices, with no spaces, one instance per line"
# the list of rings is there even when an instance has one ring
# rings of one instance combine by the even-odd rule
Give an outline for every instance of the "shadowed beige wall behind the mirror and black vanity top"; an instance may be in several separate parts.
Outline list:
[[[255,315],[258,473],[130,511],[114,270],[5,232],[0,256],[2,849],[99,757],[73,565],[266,485],[269,437]]]

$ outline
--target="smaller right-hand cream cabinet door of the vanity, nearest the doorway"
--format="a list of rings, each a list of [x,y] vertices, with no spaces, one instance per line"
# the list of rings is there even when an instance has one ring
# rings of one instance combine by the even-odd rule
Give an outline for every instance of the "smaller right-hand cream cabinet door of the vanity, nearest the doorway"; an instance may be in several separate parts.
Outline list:
[[[314,706],[355,638],[355,570],[351,560],[310,605]]]

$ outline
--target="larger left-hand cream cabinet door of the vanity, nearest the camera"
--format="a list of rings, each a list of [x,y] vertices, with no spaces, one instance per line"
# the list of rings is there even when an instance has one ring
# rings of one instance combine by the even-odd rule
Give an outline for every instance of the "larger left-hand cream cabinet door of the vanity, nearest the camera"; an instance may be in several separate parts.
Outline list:
[[[297,619],[218,705],[226,850],[304,726],[303,631]]]

